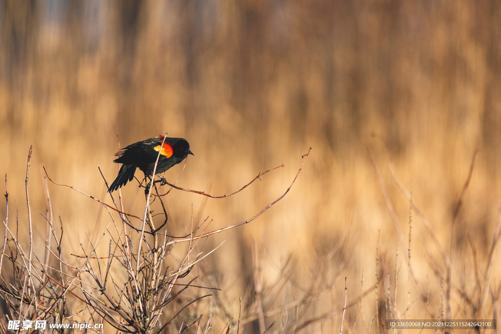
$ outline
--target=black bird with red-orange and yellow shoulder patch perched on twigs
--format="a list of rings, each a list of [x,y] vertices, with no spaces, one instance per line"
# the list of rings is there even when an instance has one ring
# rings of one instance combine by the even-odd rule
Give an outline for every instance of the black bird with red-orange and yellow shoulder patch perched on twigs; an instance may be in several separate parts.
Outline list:
[[[155,173],[162,179],[163,177],[158,174],[180,163],[188,154],[194,155],[189,149],[188,142],[183,138],[165,137],[165,142],[160,150],[163,138],[163,136],[160,136],[146,139],[118,151],[115,154],[118,158],[114,162],[123,165],[118,172],[117,178],[110,185],[108,192],[118,190],[121,186],[126,185],[128,181],[132,181],[136,168],[143,171],[145,178],[151,179],[158,151],[160,151],[160,157],[158,158]]]

